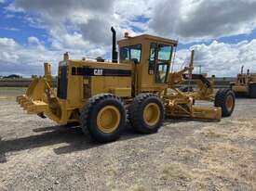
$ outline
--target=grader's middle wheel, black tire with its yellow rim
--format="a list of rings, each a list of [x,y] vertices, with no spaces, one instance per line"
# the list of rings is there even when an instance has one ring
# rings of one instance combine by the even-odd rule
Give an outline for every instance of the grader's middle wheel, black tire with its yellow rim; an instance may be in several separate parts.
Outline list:
[[[165,108],[155,94],[136,96],[128,106],[128,120],[135,131],[154,134],[163,125]]]

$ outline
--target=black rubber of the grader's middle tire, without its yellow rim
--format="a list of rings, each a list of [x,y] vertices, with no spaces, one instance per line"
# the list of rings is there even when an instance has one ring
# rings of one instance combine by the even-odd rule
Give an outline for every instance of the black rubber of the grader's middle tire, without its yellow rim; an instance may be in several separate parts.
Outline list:
[[[155,103],[160,109],[159,121],[154,126],[149,126],[143,120],[143,110],[150,104]],[[141,94],[136,96],[128,106],[128,121],[132,128],[141,134],[154,134],[163,125],[165,118],[165,107],[162,100],[155,94]]]

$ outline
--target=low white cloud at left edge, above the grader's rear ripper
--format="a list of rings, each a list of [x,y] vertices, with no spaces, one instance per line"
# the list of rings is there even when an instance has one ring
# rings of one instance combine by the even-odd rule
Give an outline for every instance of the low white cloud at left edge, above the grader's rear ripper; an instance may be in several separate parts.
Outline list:
[[[10,38],[0,38],[0,46],[0,75],[42,74],[44,62],[57,61],[58,53],[45,49],[35,37],[28,38],[28,46],[20,45]]]

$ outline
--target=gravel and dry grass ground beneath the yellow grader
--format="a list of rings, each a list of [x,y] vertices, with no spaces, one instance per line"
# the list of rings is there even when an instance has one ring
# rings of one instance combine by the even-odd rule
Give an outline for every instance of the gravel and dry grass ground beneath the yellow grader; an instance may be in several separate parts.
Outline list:
[[[167,120],[99,145],[0,94],[0,190],[256,190],[256,100],[220,122]]]

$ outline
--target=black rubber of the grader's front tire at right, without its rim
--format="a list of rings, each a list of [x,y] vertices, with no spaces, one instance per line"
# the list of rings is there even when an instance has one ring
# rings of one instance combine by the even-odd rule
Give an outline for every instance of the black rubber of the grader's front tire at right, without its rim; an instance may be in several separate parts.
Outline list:
[[[226,106],[226,98],[228,96],[233,97],[234,105],[231,109],[228,109]],[[231,116],[234,111],[235,105],[236,105],[236,96],[231,89],[227,88],[227,89],[218,90],[218,92],[215,95],[214,106],[222,108],[222,117]]]

